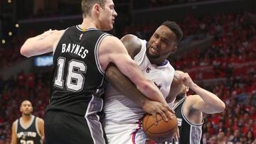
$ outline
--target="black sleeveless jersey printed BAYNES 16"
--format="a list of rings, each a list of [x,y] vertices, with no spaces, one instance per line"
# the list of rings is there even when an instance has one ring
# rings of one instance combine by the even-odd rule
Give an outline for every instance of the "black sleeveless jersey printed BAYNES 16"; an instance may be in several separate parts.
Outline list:
[[[104,93],[105,71],[100,67],[98,50],[107,35],[110,34],[97,28],[82,31],[80,26],[72,26],[66,29],[53,54],[52,89],[47,111],[85,116],[91,103],[97,106],[95,111],[102,109],[100,96]],[[95,109],[95,106],[90,107]]]

